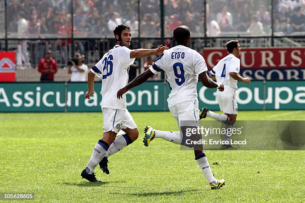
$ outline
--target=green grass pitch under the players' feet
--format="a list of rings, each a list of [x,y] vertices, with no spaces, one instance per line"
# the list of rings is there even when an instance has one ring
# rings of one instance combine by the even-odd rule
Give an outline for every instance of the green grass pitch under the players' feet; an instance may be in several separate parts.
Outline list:
[[[212,191],[192,151],[155,139],[143,128],[177,130],[169,112],[132,112],[139,139],[109,157],[110,175],[81,179],[102,135],[101,113],[0,113],[0,193],[34,193],[30,202],[305,202],[304,151],[206,151]],[[240,111],[239,120],[305,120],[305,111]],[[217,162],[218,165],[213,165]],[[22,202],[22,201],[18,201]]]

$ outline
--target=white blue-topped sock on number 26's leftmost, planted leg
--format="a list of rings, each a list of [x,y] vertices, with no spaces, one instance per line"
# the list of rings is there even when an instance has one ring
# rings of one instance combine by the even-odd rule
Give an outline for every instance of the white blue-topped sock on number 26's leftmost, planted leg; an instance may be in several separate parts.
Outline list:
[[[95,167],[100,163],[100,161],[104,158],[108,150],[108,146],[106,146],[102,142],[98,142],[92,152],[91,158],[87,164],[87,167],[90,169],[88,172],[92,174],[94,172]]]

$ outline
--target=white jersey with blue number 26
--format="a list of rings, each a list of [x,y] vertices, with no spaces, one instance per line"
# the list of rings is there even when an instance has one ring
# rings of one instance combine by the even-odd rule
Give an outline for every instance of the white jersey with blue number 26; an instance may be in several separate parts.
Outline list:
[[[102,108],[126,109],[126,94],[119,100],[117,93],[128,84],[129,66],[136,59],[130,58],[131,51],[126,46],[116,45],[91,69],[102,78]]]

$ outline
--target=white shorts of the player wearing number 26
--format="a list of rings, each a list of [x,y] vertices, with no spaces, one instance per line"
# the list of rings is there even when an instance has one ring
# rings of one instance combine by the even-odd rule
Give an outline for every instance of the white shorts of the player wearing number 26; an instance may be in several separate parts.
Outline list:
[[[102,111],[104,115],[104,132],[114,131],[115,133],[118,133],[121,129],[137,128],[132,115],[127,109],[103,108]]]

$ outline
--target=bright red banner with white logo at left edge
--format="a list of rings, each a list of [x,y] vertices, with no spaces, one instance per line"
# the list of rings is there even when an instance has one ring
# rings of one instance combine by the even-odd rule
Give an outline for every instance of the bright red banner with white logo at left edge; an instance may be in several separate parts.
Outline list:
[[[16,53],[0,51],[0,82],[16,81]]]

